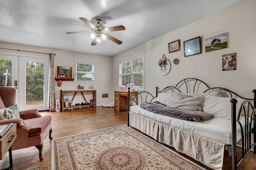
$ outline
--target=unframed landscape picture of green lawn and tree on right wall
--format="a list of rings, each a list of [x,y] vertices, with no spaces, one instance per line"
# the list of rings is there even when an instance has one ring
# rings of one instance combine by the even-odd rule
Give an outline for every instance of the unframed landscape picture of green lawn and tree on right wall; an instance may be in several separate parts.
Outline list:
[[[222,33],[204,40],[205,52],[228,48],[228,33]]]

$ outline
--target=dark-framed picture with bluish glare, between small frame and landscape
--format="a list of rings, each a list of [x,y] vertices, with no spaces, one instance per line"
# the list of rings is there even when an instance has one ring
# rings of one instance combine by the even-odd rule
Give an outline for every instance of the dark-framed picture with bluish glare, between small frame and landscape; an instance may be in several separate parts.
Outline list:
[[[184,41],[184,57],[201,53],[200,36]]]

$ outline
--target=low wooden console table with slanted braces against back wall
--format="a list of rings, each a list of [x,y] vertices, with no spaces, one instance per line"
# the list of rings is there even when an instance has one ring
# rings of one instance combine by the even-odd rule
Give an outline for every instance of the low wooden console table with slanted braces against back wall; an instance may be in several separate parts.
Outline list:
[[[90,103],[90,100],[86,100],[86,98],[84,97],[84,93],[91,93],[92,94],[92,100],[94,101],[92,104],[88,104],[88,105],[78,105],[78,106],[74,106],[74,103],[72,106],[70,107],[64,107],[65,104],[64,104],[64,96],[65,96],[65,93],[68,93],[68,92],[74,92],[74,95],[73,95],[73,98],[72,98],[72,101],[74,100],[77,92],[80,92],[82,94],[82,97],[84,98],[84,103],[86,102],[89,102]],[[64,111],[64,109],[70,109],[70,108],[86,108],[86,107],[96,107],[96,90],[95,89],[81,89],[81,90],[60,90],[60,109],[61,111]]]

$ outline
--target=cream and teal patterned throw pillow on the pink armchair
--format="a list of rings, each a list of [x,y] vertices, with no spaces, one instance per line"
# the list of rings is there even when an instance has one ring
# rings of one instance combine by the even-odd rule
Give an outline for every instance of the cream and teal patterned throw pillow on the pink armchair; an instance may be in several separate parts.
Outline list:
[[[20,113],[17,105],[10,106],[8,108],[0,109],[0,120],[4,119],[19,119]]]

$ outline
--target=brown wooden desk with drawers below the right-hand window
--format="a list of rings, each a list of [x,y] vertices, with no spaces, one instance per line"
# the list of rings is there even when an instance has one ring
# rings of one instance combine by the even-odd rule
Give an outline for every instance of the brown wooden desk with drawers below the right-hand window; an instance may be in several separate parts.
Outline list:
[[[130,97],[138,94],[137,91],[130,91]],[[114,91],[116,111],[126,111],[128,109],[128,91],[116,90]]]

